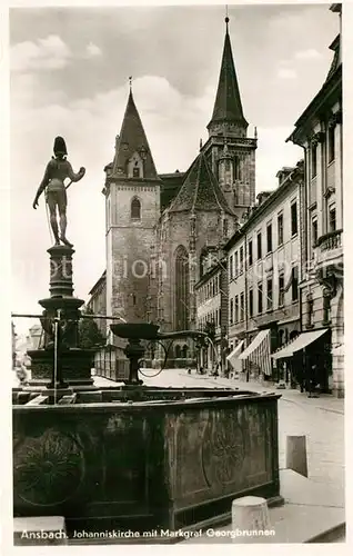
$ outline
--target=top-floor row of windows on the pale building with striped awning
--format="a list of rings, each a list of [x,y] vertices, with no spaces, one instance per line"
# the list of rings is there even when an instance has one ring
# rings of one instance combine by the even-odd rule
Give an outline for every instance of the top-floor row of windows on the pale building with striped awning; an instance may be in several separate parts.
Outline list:
[[[297,206],[296,201],[291,205],[291,235],[296,236],[297,234]],[[278,247],[283,245],[283,212],[278,215]],[[263,254],[263,242],[262,242],[262,232],[259,231],[256,235],[256,259],[262,259],[263,255],[268,255],[273,251],[273,230],[272,222],[268,224],[266,227],[266,250]],[[254,261],[254,245],[253,240],[250,239],[248,242],[248,264],[249,267],[253,265]],[[244,248],[243,246],[239,251],[235,251],[234,255],[230,256],[229,260],[229,275],[230,279],[236,278],[240,274],[244,271]]]

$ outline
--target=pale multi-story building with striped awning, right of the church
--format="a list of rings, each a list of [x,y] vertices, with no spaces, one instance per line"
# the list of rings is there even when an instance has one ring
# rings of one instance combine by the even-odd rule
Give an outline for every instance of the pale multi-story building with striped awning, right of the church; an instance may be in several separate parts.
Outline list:
[[[278,173],[279,187],[258,195],[258,205],[224,248],[229,348],[239,351],[248,376],[279,378],[271,353],[300,332],[299,190],[303,177],[302,161],[296,168],[283,168]]]

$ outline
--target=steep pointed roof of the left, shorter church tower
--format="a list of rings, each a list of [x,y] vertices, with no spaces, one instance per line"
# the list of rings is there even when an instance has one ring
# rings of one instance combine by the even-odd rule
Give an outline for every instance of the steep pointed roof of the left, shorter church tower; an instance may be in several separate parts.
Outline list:
[[[117,138],[115,157],[113,161],[114,176],[127,176],[128,162],[135,152],[144,160],[143,178],[159,180],[141,118],[130,88],[120,136]]]

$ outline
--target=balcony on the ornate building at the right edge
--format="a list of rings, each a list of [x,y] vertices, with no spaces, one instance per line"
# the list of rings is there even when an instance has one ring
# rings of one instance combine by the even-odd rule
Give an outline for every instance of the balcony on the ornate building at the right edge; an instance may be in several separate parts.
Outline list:
[[[343,274],[343,230],[331,231],[317,239],[315,248],[315,271],[323,271],[329,267],[335,275]]]

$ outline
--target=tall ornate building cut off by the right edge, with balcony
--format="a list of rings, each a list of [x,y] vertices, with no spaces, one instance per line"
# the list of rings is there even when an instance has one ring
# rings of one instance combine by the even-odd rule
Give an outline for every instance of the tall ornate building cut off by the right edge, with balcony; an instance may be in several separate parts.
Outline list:
[[[331,10],[340,14],[341,6]],[[331,44],[333,62],[321,90],[295,123],[288,140],[303,147],[305,181],[301,196],[302,326],[322,335],[322,345],[306,355],[315,361],[320,384],[344,395],[343,371],[343,180],[341,33]]]

